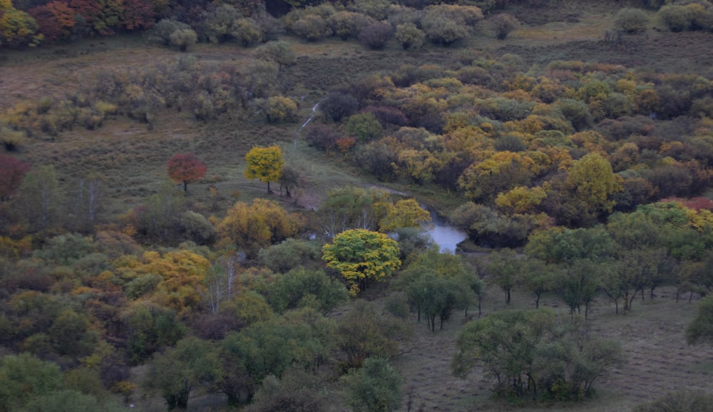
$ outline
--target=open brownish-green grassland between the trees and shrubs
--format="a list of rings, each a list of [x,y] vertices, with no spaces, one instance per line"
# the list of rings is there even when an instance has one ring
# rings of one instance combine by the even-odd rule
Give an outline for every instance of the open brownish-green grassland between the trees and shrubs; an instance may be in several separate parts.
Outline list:
[[[215,185],[219,196],[217,214],[235,200],[270,196],[285,205],[314,208],[332,187],[369,185],[348,162],[318,153],[294,136],[304,120],[312,115],[314,103],[330,88],[368,73],[390,71],[401,64],[438,63],[457,65],[480,56],[496,58],[514,53],[530,65],[545,66],[553,60],[599,61],[622,64],[650,71],[681,71],[713,75],[713,42],[709,34],[671,34],[654,29],[627,36],[622,46],[602,41],[610,29],[612,13],[593,6],[578,7],[564,2],[557,10],[541,15],[516,15],[522,26],[505,41],[477,36],[452,48],[427,46],[422,51],[403,51],[395,42],[383,51],[369,51],[355,42],[336,39],[304,43],[284,37],[297,54],[297,64],[287,70],[292,85],[289,95],[302,98],[299,118],[292,123],[267,125],[251,118],[222,118],[199,123],[190,113],[159,113],[148,130],[143,123],[116,117],[98,130],[76,128],[56,140],[31,138],[19,155],[32,165],[53,164],[65,182],[87,170],[101,172],[108,179],[107,215],[116,216],[142,204],[167,178],[165,163],[174,153],[193,151],[207,164],[202,182],[189,185],[194,209],[212,213],[208,187]],[[586,3],[585,3],[586,4]],[[191,55],[201,61],[240,64],[251,49],[235,46],[197,45]],[[0,108],[25,99],[46,95],[62,96],[81,88],[83,83],[108,69],[140,68],[162,59],[182,56],[178,51],[147,46],[141,36],[116,36],[88,39],[71,45],[48,46],[34,51],[0,51]],[[295,199],[267,195],[264,184],[242,175],[243,156],[252,145],[278,143],[287,163],[302,171],[306,185]],[[443,209],[454,199],[427,189],[406,185],[391,187],[409,192],[422,202]],[[584,403],[544,405],[523,411],[625,411],[636,403],[651,400],[668,391],[702,389],[713,393],[713,348],[687,346],[684,329],[695,313],[687,301],[675,302],[672,289],[663,288],[654,300],[635,302],[626,315],[615,315],[609,302],[600,298],[588,324],[594,334],[617,339],[625,348],[628,362],[605,376],[596,385],[597,396]],[[374,299],[381,299],[376,294]],[[483,313],[502,309],[501,294],[489,291]],[[515,292],[513,307],[528,308],[530,297]],[[543,305],[556,307],[568,316],[564,305],[553,297]],[[489,398],[491,382],[474,370],[466,380],[451,376],[449,363],[454,337],[461,328],[460,315],[453,316],[443,331],[431,333],[425,324],[413,321],[416,336],[413,349],[394,359],[394,366],[406,377],[404,388],[411,393],[411,411],[508,410],[510,407]],[[146,404],[153,403],[145,401]],[[197,410],[214,410],[210,400],[205,407],[193,402]],[[155,406],[155,405],[153,405]],[[153,408],[153,406],[151,406]],[[406,411],[406,403],[403,410]]]

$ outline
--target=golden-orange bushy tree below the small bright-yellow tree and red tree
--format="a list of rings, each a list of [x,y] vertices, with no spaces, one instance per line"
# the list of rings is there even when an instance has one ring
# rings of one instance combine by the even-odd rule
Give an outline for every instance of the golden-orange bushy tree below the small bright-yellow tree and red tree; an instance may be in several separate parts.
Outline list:
[[[294,236],[300,222],[299,215],[288,213],[277,203],[255,199],[251,205],[235,203],[218,224],[217,232],[252,258],[263,247]]]

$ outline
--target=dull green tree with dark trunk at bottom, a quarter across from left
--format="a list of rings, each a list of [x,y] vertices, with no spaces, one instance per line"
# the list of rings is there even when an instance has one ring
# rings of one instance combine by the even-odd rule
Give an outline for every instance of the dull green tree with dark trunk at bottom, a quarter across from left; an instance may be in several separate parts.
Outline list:
[[[210,342],[195,337],[178,341],[175,348],[156,356],[145,386],[155,388],[169,411],[188,408],[190,392],[210,386],[220,376],[220,363]]]

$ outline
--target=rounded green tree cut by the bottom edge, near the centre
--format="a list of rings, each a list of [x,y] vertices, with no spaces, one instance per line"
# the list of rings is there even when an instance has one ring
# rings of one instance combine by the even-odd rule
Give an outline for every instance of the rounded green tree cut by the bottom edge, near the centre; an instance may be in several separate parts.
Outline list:
[[[343,379],[349,387],[347,402],[356,412],[388,412],[401,407],[403,379],[386,359],[366,359],[361,368]]]

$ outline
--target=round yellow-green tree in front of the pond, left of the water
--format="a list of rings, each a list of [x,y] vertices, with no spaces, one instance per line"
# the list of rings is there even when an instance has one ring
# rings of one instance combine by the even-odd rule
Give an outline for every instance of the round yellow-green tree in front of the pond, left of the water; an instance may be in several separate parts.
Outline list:
[[[322,260],[337,269],[351,284],[349,293],[356,295],[370,281],[381,281],[401,266],[399,244],[379,232],[352,229],[334,237],[322,248]]]

